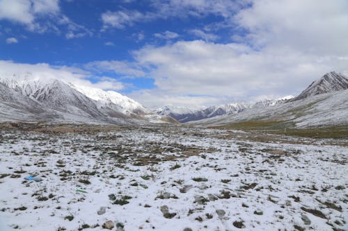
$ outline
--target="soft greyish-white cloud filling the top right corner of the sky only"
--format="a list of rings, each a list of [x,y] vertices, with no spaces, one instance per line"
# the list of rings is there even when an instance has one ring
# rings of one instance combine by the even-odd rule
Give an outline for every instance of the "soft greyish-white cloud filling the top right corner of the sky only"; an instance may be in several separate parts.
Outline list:
[[[254,0],[234,22],[254,46],[290,46],[317,55],[348,53],[347,0]]]

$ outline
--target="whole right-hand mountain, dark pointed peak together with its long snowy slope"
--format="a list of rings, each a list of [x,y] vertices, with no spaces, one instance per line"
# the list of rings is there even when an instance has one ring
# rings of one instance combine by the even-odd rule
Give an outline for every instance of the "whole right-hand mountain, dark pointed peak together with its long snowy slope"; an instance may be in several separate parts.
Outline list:
[[[313,82],[299,96],[272,107],[251,107],[189,124],[199,126],[251,126],[262,129],[311,128],[348,125],[348,79],[330,72]]]

